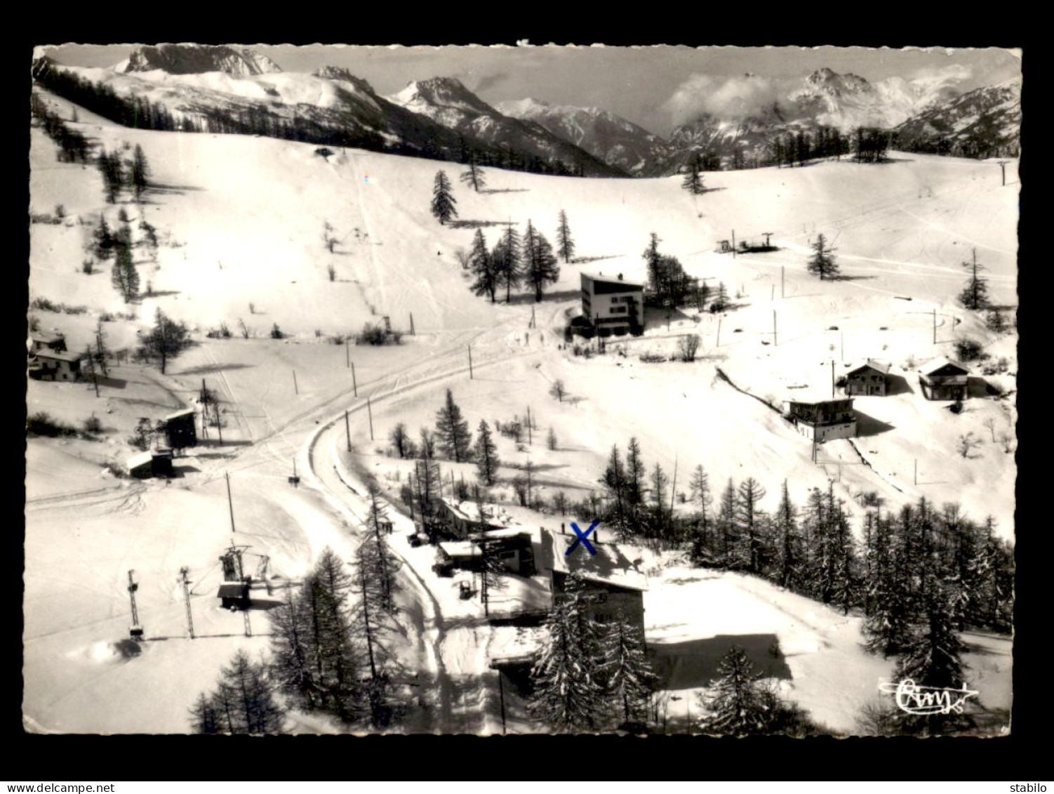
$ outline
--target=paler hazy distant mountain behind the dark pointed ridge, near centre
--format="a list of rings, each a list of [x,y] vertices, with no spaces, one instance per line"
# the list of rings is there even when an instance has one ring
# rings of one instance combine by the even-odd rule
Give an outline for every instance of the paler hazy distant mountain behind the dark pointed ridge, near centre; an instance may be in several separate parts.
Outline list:
[[[499,102],[506,116],[535,121],[553,135],[632,176],[657,176],[668,156],[668,144],[658,135],[600,108],[551,105],[536,99]]]

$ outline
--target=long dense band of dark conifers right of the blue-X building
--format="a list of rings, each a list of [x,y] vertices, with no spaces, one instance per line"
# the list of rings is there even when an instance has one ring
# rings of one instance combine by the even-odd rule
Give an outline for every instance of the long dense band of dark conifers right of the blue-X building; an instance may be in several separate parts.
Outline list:
[[[825,491],[812,489],[799,508],[784,482],[768,514],[761,507],[765,489],[754,478],[738,485],[729,479],[715,499],[707,472],[698,466],[688,478],[695,509],[677,514],[676,484],[660,464],[645,466],[636,439],[624,460],[612,447],[601,482],[605,498],[593,501],[591,510],[582,505],[589,520],[603,520],[623,539],[684,547],[696,565],[761,576],[845,614],[860,609],[867,648],[902,655],[901,672],[916,683],[960,686],[955,632],[1012,626],[1013,548],[996,537],[991,518],[978,524],[957,505],[938,510],[920,498],[887,512],[876,495],[860,495],[858,543],[852,514],[833,483]],[[936,730],[933,719],[898,724]]]

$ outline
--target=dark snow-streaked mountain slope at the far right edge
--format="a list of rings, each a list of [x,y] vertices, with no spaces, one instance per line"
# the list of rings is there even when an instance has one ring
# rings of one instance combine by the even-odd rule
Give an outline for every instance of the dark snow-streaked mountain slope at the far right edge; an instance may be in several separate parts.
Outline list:
[[[1021,81],[992,85],[914,116],[894,130],[900,149],[969,157],[1021,150]]]

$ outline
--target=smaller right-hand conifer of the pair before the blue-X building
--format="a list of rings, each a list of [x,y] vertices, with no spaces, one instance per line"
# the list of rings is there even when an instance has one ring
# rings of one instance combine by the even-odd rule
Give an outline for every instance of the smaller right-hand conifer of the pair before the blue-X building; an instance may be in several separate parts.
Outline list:
[[[605,623],[598,677],[621,722],[639,719],[658,677],[645,655],[644,636],[624,616]]]

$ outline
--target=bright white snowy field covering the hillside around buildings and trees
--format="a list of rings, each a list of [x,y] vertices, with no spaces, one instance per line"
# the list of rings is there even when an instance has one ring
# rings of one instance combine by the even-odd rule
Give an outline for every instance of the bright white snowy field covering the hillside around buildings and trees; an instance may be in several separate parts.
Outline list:
[[[69,103],[50,101],[69,118]],[[495,435],[506,464],[500,476],[510,479],[513,466],[529,460],[546,497],[563,490],[581,499],[598,489],[611,446],[624,450],[636,437],[649,466],[660,462],[667,473],[678,467],[678,490],[687,490],[688,470],[702,464],[715,489],[728,478],[756,478],[769,495],[762,507],[770,509],[784,479],[799,503],[807,488],[835,480],[846,501],[864,490],[878,491],[890,506],[920,496],[938,505],[956,501],[974,520],[991,514],[998,531],[1013,538],[1013,454],[991,440],[985,425],[991,419],[996,434],[1013,437],[1013,396],[971,399],[955,415],[948,403],[922,399],[912,369],[937,355],[954,357],[952,343],[969,335],[1016,372],[1016,336],[993,334],[955,301],[965,278],[961,264],[976,249],[994,303],[1016,306],[1016,163],[1001,188],[994,162],[895,153],[882,166],[824,161],[707,174],[713,190],[696,197],[676,177],[578,179],[490,169],[486,191],[455,188],[460,220],[482,225],[491,246],[503,224],[518,222],[522,231],[528,218],[552,239],[563,209],[578,255],[596,257],[563,265],[541,304],[514,295],[509,305],[491,305],[472,295],[456,257],[474,228],[441,227],[429,214],[435,171],[454,177],[456,163],[357,150],[324,159],[305,143],[130,130],[83,109],[73,125],[108,150],[141,146],[160,187],[141,206],[108,206],[97,170],[57,162],[54,144],[34,129],[31,211],[50,213],[61,204],[69,220],[32,226],[31,299],[86,312],[32,313],[41,328],[63,331],[71,350],[94,341],[100,313],[126,311],[136,319],[103,328],[111,349],[133,348],[135,331],[149,327],[156,308],[186,322],[198,344],[170,362],[164,375],[131,363],[113,367],[98,398],[85,383],[28,384],[31,413],[44,410],[72,424],[94,413],[104,426],[100,441],[27,444],[23,711],[30,730],[188,730],[187,709],[214,685],[234,651],[256,656],[268,645],[266,609],[251,613],[253,636],[246,637],[241,615],[219,608],[219,554],[233,540],[250,546],[253,566],[269,558],[274,594],[261,585],[254,590],[261,600],[280,599],[326,546],[348,559],[364,515],[362,473],[397,492],[410,464],[391,457],[387,437],[398,422],[413,437],[431,427],[447,388],[473,432],[481,420],[493,425],[530,408],[539,430],[526,451]],[[145,216],[161,236],[157,263],[138,264],[142,284],[158,294],[128,307],[110,283],[109,265],[81,272],[92,227],[77,222],[101,212],[115,227],[121,209],[133,226]],[[332,254],[323,241],[327,222],[339,238]],[[772,232],[780,250],[736,258],[715,253],[733,229],[737,239],[757,241]],[[605,356],[573,356],[562,347],[562,330],[580,306],[580,271],[642,275],[651,232],[688,272],[738,293],[739,308],[723,317],[686,311],[668,325],[655,317],[644,337],[624,343],[625,356],[610,345]],[[819,233],[836,246],[847,279],[821,283],[806,273],[808,245]],[[327,342],[384,316],[406,332],[411,314],[415,335],[398,346]],[[250,338],[240,337],[239,321]],[[220,323],[234,337],[206,338]],[[291,336],[269,338],[274,324]],[[702,337],[698,361],[638,359],[647,350],[671,351],[684,333]],[[853,445],[824,445],[818,464],[807,441],[717,372],[744,391],[779,400],[787,387],[828,388],[832,361],[843,372],[866,357],[890,363],[909,389],[858,399],[856,407],[870,418],[861,423],[866,434]],[[202,379],[222,401],[225,443],[211,438],[188,450],[171,483],[114,478],[106,467],[134,451],[125,439],[138,419],[193,405]],[[562,403],[548,394],[555,380],[567,386]],[[989,380],[1015,388],[1009,375]],[[545,444],[550,427],[555,450]],[[981,441],[971,458],[956,452],[965,432]],[[346,435],[352,456],[344,451]],[[299,488],[287,482],[294,461]],[[474,477],[471,466],[444,464],[448,469],[466,482]],[[508,488],[499,493],[512,501]],[[518,520],[552,525],[577,518]],[[393,540],[407,563],[399,659],[421,683],[421,708],[408,730],[497,731],[496,683],[487,670],[492,638],[479,601],[461,601],[450,580],[432,574],[432,549],[406,542],[410,526],[396,517]],[[182,566],[194,583],[193,641],[186,636]],[[140,617],[151,639],[136,646],[124,641],[129,569],[140,583]],[[645,603],[652,643],[778,637],[793,675],[784,682],[788,696],[833,731],[852,731],[859,705],[890,674],[891,662],[860,648],[858,617],[760,580],[664,567]],[[974,644],[988,647],[968,658],[980,700],[1009,708],[1009,639]],[[295,718],[290,730],[338,729]]]

